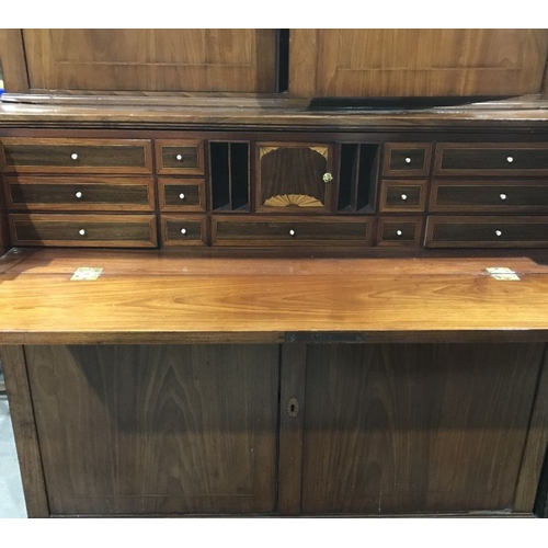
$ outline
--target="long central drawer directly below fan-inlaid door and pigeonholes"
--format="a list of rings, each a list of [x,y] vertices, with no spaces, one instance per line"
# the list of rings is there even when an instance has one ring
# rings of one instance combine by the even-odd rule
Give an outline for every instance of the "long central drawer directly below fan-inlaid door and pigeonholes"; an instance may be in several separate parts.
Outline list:
[[[213,218],[215,246],[299,246],[326,244],[369,246],[369,219]]]

